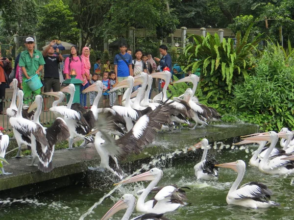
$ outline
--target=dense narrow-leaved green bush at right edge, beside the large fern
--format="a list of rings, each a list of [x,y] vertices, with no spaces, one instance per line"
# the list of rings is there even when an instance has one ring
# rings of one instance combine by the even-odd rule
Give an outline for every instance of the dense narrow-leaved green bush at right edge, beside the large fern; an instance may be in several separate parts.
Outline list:
[[[256,60],[255,74],[236,85],[233,111],[264,131],[294,129],[294,56],[285,57],[279,45],[269,44]]]

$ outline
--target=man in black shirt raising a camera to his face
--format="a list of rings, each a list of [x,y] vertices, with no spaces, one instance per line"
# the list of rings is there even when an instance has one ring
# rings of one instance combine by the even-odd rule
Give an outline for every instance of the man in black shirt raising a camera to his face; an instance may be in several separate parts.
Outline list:
[[[51,43],[48,45],[46,49],[43,51],[43,57],[45,60],[44,65],[44,93],[48,93],[51,91],[51,88],[53,92],[60,91],[60,81],[59,81],[59,71],[58,71],[58,64],[59,62],[62,62],[63,57],[59,53],[59,49],[56,48],[56,54],[54,54],[53,45],[55,45],[56,42],[51,41]],[[48,97],[44,98],[44,111],[47,112],[47,102]]]

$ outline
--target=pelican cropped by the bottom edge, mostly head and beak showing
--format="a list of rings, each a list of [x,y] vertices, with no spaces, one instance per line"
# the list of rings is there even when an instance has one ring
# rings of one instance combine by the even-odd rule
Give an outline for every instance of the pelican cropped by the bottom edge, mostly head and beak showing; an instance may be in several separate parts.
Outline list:
[[[118,211],[122,209],[126,209],[122,220],[129,220],[130,216],[132,215],[132,212],[134,211],[136,204],[136,198],[135,196],[131,194],[124,194],[117,203],[115,203],[108,211],[107,213],[102,217],[101,220],[107,220],[114,214],[116,214]],[[169,220],[168,218],[163,217],[163,214],[154,214],[154,213],[148,213],[144,214],[138,217],[133,218],[132,220]]]

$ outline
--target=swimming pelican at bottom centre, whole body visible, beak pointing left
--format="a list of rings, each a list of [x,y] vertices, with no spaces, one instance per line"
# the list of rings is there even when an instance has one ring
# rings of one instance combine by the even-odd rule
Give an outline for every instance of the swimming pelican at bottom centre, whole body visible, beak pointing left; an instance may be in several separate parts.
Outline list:
[[[131,177],[130,179],[123,180],[120,183],[132,183],[138,181],[151,181],[147,188],[143,191],[138,199],[136,210],[138,212],[163,214],[166,212],[172,212],[179,208],[181,205],[185,205],[183,200],[186,200],[186,196],[178,192],[173,186],[166,186],[162,188],[155,196],[154,199],[145,202],[146,197],[151,190],[156,186],[163,175],[163,172],[157,168],[152,168],[150,171]]]

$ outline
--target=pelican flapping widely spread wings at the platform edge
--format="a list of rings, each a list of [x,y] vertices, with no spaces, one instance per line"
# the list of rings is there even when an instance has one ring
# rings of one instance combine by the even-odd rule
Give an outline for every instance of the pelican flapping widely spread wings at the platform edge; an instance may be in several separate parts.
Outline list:
[[[171,109],[172,106],[169,104],[164,103],[160,105],[154,111],[139,118],[133,128],[118,140],[114,140],[109,136],[109,128],[103,127],[103,124],[105,125],[109,122],[103,122],[103,118],[99,117],[98,123],[101,124],[97,124],[96,130],[92,132],[97,132],[94,143],[101,158],[100,166],[97,169],[107,169],[122,178],[121,174],[109,167],[109,156],[114,159],[117,168],[119,168],[117,157],[123,159],[130,153],[140,153],[143,147],[153,141],[157,131],[161,129],[162,124],[170,120]],[[90,169],[95,170],[94,168]]]

